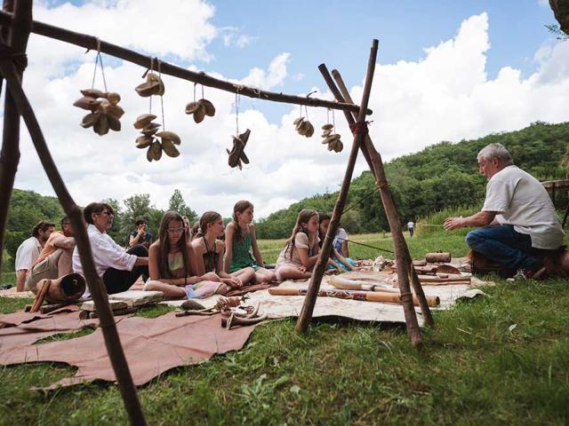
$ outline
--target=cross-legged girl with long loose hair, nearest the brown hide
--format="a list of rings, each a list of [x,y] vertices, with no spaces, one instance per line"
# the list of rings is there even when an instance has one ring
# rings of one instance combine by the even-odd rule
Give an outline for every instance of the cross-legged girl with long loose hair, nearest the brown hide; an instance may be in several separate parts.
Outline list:
[[[215,273],[196,276],[194,250],[186,241],[183,218],[176,211],[167,211],[162,217],[158,240],[148,250],[150,279],[145,290],[164,293],[166,299],[224,295],[228,286]]]

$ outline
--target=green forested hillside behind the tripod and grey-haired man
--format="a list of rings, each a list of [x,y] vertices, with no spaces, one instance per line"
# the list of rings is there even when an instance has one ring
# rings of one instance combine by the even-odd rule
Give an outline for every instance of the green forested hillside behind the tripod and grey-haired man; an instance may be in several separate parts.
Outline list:
[[[389,186],[402,221],[484,200],[485,177],[478,173],[477,153],[486,145],[496,142],[509,149],[517,166],[540,180],[564,178],[566,175],[560,163],[569,142],[569,123],[535,122],[523,130],[458,143],[440,142],[385,164]],[[377,147],[381,152],[381,146]],[[379,194],[373,194],[374,188],[369,171],[352,180],[347,205],[357,202],[357,207],[342,217],[342,226],[349,233],[374,233],[389,229]],[[294,203],[288,209],[276,211],[259,221],[258,235],[260,238],[288,236],[299,210],[330,212],[337,194],[317,194]],[[358,202],[362,198],[365,200]]]

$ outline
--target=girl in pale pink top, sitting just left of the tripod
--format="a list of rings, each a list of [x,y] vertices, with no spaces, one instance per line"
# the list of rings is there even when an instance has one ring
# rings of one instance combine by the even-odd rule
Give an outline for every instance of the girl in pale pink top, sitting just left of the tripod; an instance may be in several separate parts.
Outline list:
[[[303,209],[296,218],[291,238],[276,259],[276,278],[302,280],[310,278],[318,260],[318,213]],[[328,259],[328,264],[331,261]]]

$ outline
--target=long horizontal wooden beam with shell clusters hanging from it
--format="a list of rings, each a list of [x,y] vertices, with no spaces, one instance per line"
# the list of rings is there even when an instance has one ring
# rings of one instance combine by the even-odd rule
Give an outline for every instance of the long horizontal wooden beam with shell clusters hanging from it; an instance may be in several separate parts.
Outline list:
[[[0,26],[12,26],[13,15],[10,12],[0,12]],[[32,33],[60,40],[61,42],[76,44],[77,46],[84,47],[85,49],[97,50],[98,42],[100,43],[100,51],[107,53],[110,56],[124,59],[133,64],[140,65],[140,67],[149,68],[152,57],[142,55],[137,51],[125,49],[124,47],[117,46],[116,44],[104,42],[95,36],[76,33],[69,31],[65,28],[55,27],[44,22],[34,20],[32,22]],[[155,62],[156,64],[156,62]],[[160,62],[160,70],[162,74],[172,75],[183,80],[188,80],[193,83],[203,84],[204,86],[219,89],[220,91],[229,91],[231,93],[239,93],[240,95],[247,96],[254,99],[272,100],[275,102],[283,102],[285,104],[297,104],[306,106],[322,106],[325,108],[338,109],[343,111],[351,111],[357,113],[359,106],[340,103],[335,100],[325,100],[317,98],[308,98],[302,96],[286,95],[284,93],[276,93],[274,91],[260,91],[249,86],[244,86],[236,83],[231,83],[219,78],[214,78],[205,73],[196,73],[186,68],[172,65],[168,62]],[[366,114],[372,114],[371,109],[366,110]]]

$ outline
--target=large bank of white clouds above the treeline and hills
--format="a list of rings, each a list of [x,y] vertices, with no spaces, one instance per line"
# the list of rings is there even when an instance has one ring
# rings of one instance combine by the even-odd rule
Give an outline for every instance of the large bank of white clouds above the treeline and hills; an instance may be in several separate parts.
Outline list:
[[[119,5],[125,7],[124,4],[127,3],[116,2],[111,7],[100,2],[83,7],[103,13],[101,22],[107,19],[117,22],[123,12]],[[140,4],[134,10],[144,20],[146,3]],[[180,49],[176,43],[164,45],[169,46],[172,55],[180,55],[182,51],[188,55],[186,58],[207,55],[204,49],[208,37],[216,31],[208,29],[213,9],[196,1],[188,1],[188,4],[196,7],[196,14],[201,16],[196,27],[202,28],[203,36],[194,41],[186,40],[184,43],[190,46],[187,50]],[[180,2],[179,6],[189,7],[186,2]],[[61,14],[66,20],[75,20],[84,10],[67,5],[60,6],[58,13],[54,16]],[[130,19],[136,21],[139,15],[129,13]],[[176,32],[185,30],[186,18],[175,14],[171,19],[177,21],[172,21],[164,32],[168,33],[168,28],[182,28],[168,33],[170,40],[176,40]],[[108,28],[108,24],[101,25]],[[112,39],[112,36],[105,37]],[[139,43],[154,49],[143,38]],[[440,140],[477,138],[494,131],[519,129],[536,120],[567,120],[569,43],[558,43],[548,54],[538,55],[541,67],[527,78],[517,69],[503,67],[496,78],[488,79],[485,61],[489,48],[488,17],[482,13],[462,22],[452,40],[426,49],[425,57],[420,60],[378,64],[370,101],[374,110],[371,132],[384,159],[417,151]],[[341,183],[351,146],[342,114],[335,115],[346,148],[341,154],[330,154],[319,138],[319,128],[326,122],[325,109],[309,108],[310,121],[317,128],[313,138],[301,137],[293,129],[298,106],[290,106],[278,124],[268,122],[260,111],[244,110],[239,115],[239,125],[241,131],[252,130],[245,149],[251,163],[245,165],[244,170],[230,170],[225,149],[230,148],[231,135],[236,131],[232,108],[235,95],[205,88],[205,98],[212,100],[217,112],[215,117],[196,124],[184,114],[184,106],[193,100],[193,84],[169,76],[164,76],[165,123],[168,130],[180,135],[181,154],[175,159],[165,157],[160,162],[148,163],[145,152],[134,146],[138,132],[132,128],[135,117],[148,111],[148,99],[141,99],[133,91],[142,81],[140,75],[144,70],[128,63],[112,63],[106,67],[108,89],[122,95],[121,105],[126,114],[121,120],[121,132],[99,137],[92,130],[79,127],[84,112],[71,106],[79,97],[78,90],[91,86],[93,53],[84,58],[82,51],[77,53],[73,48],[68,54],[67,49],[64,43],[32,37],[31,62],[24,84],[60,172],[80,204],[150,193],[156,206],[165,208],[173,190],[179,188],[188,205],[198,212],[214,209],[228,217],[235,201],[248,199],[255,204],[256,216],[263,217],[305,196],[323,193],[325,188],[335,191]],[[58,55],[44,64],[42,60],[52,58],[52,51]],[[278,54],[267,69],[252,68],[244,78],[235,81],[263,88],[279,86],[290,78],[287,74],[290,57],[290,53]],[[60,69],[61,64],[68,64],[69,60],[76,63],[67,75],[46,72],[46,69]],[[215,76],[236,78],[235,75]],[[358,100],[362,88],[354,87],[351,92]],[[201,90],[197,94],[200,96]],[[318,91],[318,96],[331,99],[328,92]],[[154,99],[153,110],[160,111],[159,99]],[[162,122],[162,117],[157,121]],[[21,151],[16,186],[52,193],[28,135],[22,137]],[[354,176],[365,168],[360,158]]]

